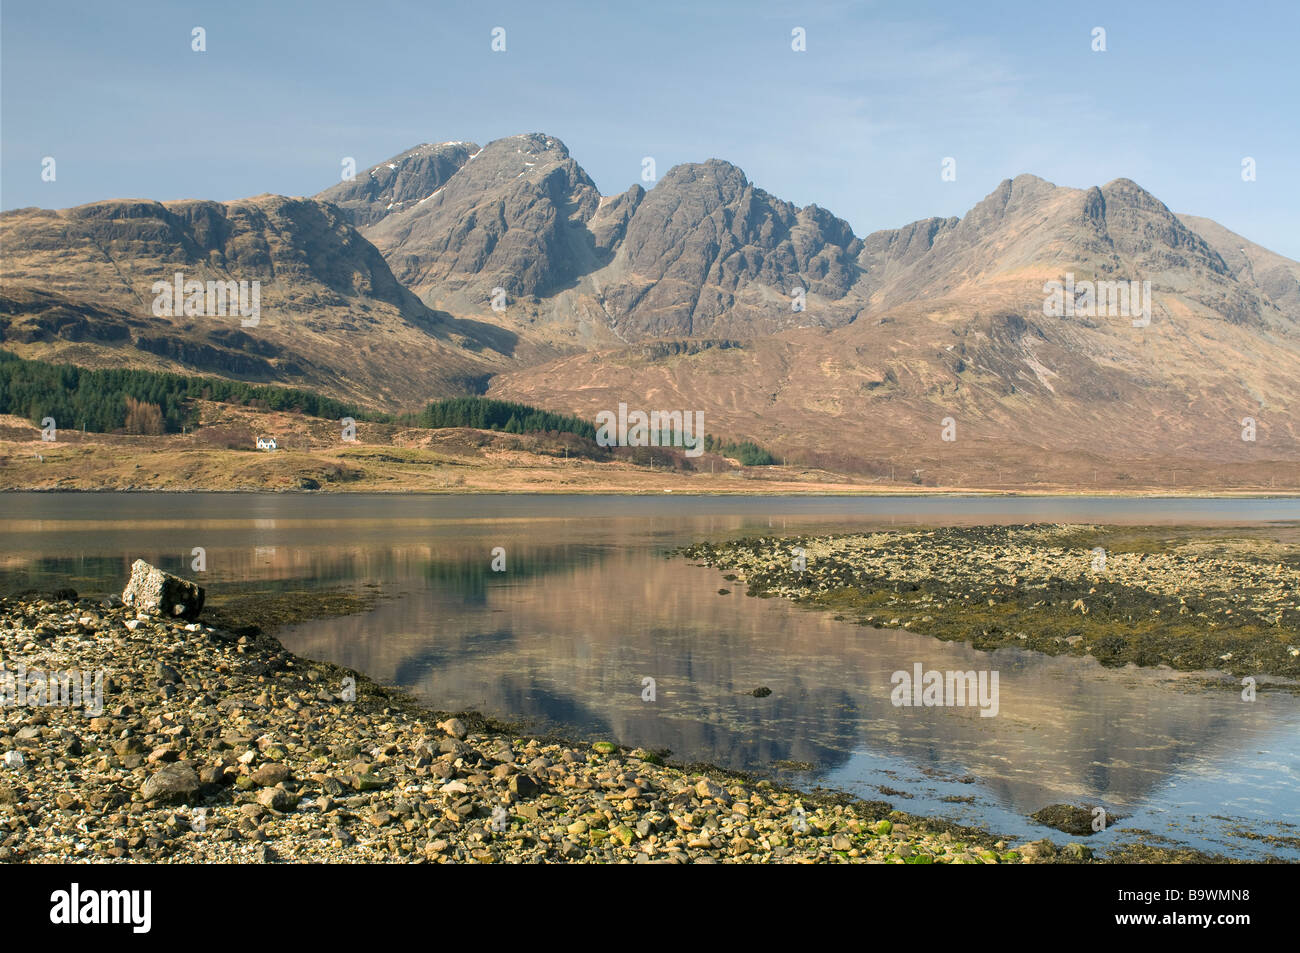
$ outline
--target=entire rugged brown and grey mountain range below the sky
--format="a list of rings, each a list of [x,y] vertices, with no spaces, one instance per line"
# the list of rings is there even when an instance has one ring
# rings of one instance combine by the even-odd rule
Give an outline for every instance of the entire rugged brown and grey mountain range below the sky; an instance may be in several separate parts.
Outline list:
[[[259,281],[260,321],[157,316],[176,272]],[[1149,324],[1049,313],[1066,281],[1149,282]],[[312,198],[5,212],[0,337],[384,410],[701,410],[924,484],[1300,482],[1300,264],[1123,178],[858,237],[718,159],[607,196],[550,135],[425,144]]]

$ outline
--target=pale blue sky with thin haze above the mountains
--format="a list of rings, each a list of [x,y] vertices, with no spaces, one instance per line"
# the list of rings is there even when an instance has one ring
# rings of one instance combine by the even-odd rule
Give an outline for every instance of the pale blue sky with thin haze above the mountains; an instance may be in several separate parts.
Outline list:
[[[0,207],[311,195],[343,156],[542,131],[607,194],[728,159],[859,235],[1123,176],[1300,259],[1297,38],[1295,3],[5,0]]]

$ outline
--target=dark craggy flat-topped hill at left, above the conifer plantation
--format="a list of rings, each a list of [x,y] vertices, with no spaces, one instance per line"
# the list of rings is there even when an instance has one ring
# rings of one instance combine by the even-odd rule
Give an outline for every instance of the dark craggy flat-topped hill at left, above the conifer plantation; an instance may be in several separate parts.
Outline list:
[[[367,404],[482,386],[517,338],[429,309],[338,208],[100,202],[0,216],[0,334],[23,356],[311,385]],[[257,282],[256,324],[155,313],[155,282]],[[166,311],[166,308],[162,308]],[[250,319],[251,320],[251,319]]]

